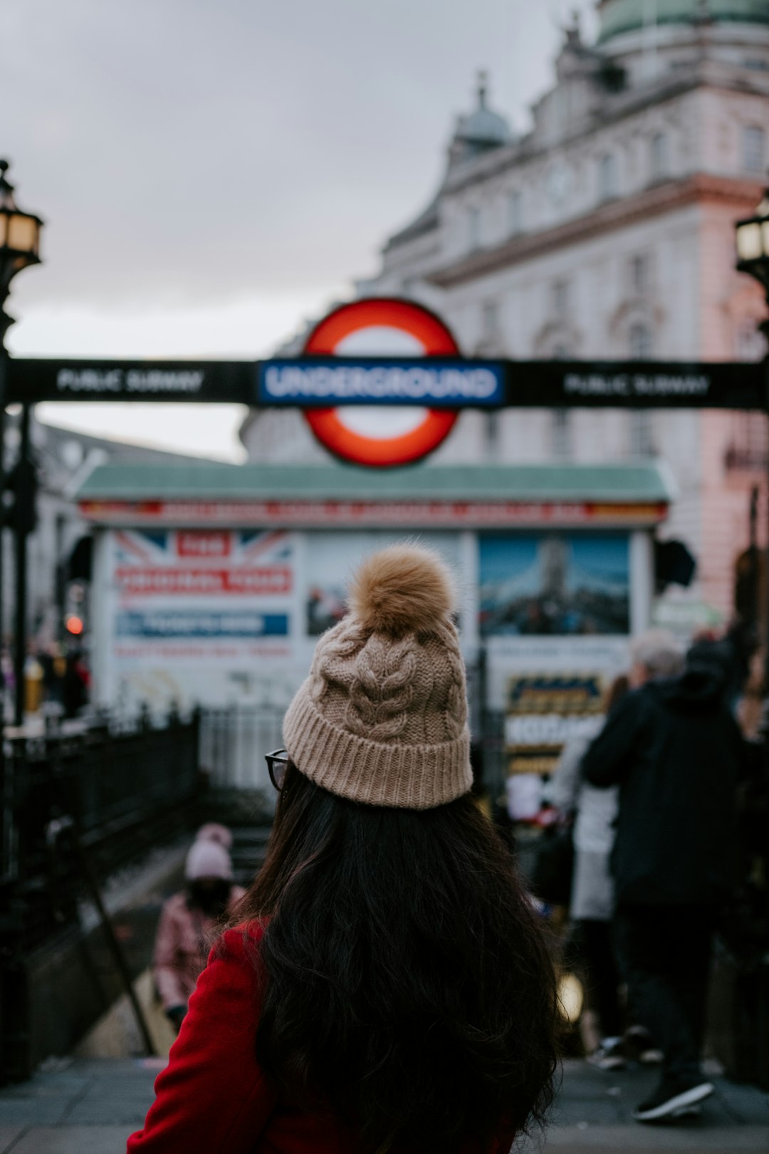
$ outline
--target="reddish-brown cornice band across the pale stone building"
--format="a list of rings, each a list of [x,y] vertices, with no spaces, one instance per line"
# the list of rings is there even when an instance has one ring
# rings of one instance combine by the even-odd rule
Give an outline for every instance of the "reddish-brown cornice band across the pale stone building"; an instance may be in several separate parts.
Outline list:
[[[760,181],[733,180],[708,173],[698,173],[685,180],[666,181],[635,196],[606,202],[593,212],[557,225],[555,228],[515,237],[496,248],[475,252],[461,261],[425,273],[424,279],[442,288],[451,288],[689,204],[719,201],[733,207],[736,215],[739,215],[752,210],[762,190],[763,185]]]

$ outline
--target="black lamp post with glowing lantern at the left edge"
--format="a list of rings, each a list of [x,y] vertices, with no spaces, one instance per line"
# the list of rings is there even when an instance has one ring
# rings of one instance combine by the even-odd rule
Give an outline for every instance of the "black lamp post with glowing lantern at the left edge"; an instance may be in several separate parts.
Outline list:
[[[14,323],[5,312],[5,304],[10,292],[10,282],[30,264],[40,263],[40,230],[43,222],[33,212],[24,212],[14,200],[14,186],[7,177],[8,162],[0,160],[0,474],[5,490],[5,413],[8,374],[8,352],[5,347],[6,332]],[[24,704],[24,650],[27,635],[27,535],[29,526],[24,524],[24,496],[27,482],[31,480],[32,466],[29,460],[29,406],[24,406],[22,415],[22,441],[16,465],[16,721],[23,720]],[[5,517],[3,517],[5,522]],[[0,533],[0,627],[2,623],[2,548]],[[21,623],[21,631],[20,631]],[[0,690],[0,697],[2,697]],[[21,712],[21,715],[20,715]],[[0,729],[5,725],[5,699],[0,699]],[[1,743],[0,743],[1,744]]]

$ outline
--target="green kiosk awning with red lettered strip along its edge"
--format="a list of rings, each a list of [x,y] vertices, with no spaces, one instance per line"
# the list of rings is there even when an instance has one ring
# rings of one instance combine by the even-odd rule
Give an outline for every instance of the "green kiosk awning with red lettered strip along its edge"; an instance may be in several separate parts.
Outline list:
[[[613,465],[101,465],[82,485],[99,524],[282,527],[651,525],[671,490],[654,462]]]

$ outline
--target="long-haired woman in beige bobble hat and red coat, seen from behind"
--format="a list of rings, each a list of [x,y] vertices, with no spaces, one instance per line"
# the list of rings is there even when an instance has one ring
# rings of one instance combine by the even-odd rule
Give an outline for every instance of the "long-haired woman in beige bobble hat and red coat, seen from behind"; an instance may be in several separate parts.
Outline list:
[[[510,1154],[553,1096],[541,921],[476,805],[438,556],[370,556],[267,755],[265,863],[128,1154]]]

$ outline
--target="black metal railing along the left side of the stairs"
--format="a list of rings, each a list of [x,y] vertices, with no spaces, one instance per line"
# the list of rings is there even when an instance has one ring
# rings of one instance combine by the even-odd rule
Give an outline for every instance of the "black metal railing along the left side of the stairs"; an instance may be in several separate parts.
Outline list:
[[[100,876],[183,829],[198,788],[199,715],[6,737],[0,775],[0,901],[13,949],[76,920],[81,879],[46,832],[71,818]]]

